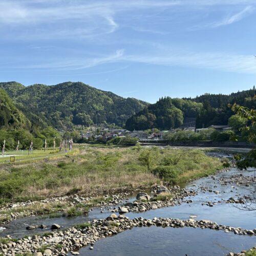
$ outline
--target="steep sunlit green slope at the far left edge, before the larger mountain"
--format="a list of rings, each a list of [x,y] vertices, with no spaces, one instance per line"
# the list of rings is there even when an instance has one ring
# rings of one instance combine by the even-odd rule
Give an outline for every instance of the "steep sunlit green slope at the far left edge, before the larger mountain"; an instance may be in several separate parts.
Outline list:
[[[0,89],[0,128],[30,129],[31,123],[13,104],[8,94]]]

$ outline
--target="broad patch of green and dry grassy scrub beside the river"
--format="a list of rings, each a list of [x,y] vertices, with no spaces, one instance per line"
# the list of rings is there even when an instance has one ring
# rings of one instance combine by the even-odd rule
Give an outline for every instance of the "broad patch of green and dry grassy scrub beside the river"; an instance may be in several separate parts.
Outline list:
[[[0,199],[94,194],[179,183],[214,173],[222,164],[199,150],[87,148],[47,162],[2,164]]]

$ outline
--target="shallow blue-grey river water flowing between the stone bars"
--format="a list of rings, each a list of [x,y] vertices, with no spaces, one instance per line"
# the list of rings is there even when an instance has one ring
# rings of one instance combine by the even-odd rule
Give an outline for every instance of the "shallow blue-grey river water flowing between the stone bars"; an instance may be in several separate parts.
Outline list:
[[[231,168],[229,172],[219,173],[215,177],[230,177],[241,173],[244,176],[253,176],[254,171],[254,169],[248,169],[246,172],[242,172],[236,168]],[[207,187],[206,191],[201,191],[200,187],[202,186]],[[183,202],[181,205],[139,213],[129,212],[126,216],[146,219],[153,219],[154,217],[189,219],[189,216],[194,215],[197,216],[196,220],[206,219],[218,224],[244,229],[256,228],[256,211],[244,211],[232,204],[221,202],[230,197],[238,198],[248,194],[248,187],[234,184],[221,185],[212,177],[190,182],[185,187],[198,191],[197,196],[186,198],[193,200],[191,203]],[[212,191],[218,190],[219,194],[209,192],[208,188]],[[135,198],[131,197],[129,201],[134,200]],[[209,207],[205,204],[208,201],[216,204]],[[93,219],[104,219],[111,214],[107,208],[103,213],[100,211],[100,208],[95,207],[87,215],[78,217],[17,219],[6,225],[6,229],[0,232],[0,236],[10,234],[12,237],[24,237],[33,233],[50,231],[50,228],[26,230],[28,225],[44,224],[51,226],[53,223],[57,223],[62,227],[69,227]],[[117,236],[97,241],[93,250],[85,247],[79,252],[80,255],[226,255],[229,251],[239,252],[253,246],[256,246],[255,236],[239,236],[223,230],[152,226],[136,227],[123,231]]]

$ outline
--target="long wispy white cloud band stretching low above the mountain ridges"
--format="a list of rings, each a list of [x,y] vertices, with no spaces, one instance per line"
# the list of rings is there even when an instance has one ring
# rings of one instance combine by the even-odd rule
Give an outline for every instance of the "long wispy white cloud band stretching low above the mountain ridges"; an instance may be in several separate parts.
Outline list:
[[[145,63],[150,65],[167,67],[189,67],[197,69],[218,70],[223,72],[256,74],[256,60],[253,55],[231,55],[225,52],[188,52],[180,49],[159,48],[158,51],[140,54],[125,54],[124,50],[117,50],[114,54],[96,58],[73,58],[48,60],[47,63],[40,62],[33,65],[13,66],[19,69],[52,69],[62,71],[86,70],[88,68],[105,65],[109,63]],[[125,66],[121,69],[126,69]],[[6,67],[8,68],[8,67]],[[83,73],[83,74],[103,74],[118,71],[119,69]]]

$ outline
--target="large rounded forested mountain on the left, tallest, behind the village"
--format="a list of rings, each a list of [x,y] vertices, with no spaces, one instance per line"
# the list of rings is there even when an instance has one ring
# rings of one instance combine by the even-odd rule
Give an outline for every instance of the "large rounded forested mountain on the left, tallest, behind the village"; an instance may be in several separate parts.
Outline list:
[[[127,118],[148,105],[82,82],[64,82],[56,86],[34,84],[28,87],[17,82],[2,82],[0,88],[6,90],[32,126],[51,125],[56,129],[102,122],[122,125]]]

